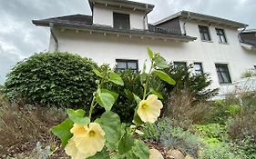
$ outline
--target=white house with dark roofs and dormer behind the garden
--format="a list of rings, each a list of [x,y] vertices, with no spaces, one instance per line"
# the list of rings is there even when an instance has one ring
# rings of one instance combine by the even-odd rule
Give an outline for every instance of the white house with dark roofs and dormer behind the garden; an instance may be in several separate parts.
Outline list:
[[[126,0],[88,0],[90,15],[68,15],[33,24],[50,27],[49,50],[77,53],[118,69],[140,69],[147,46],[174,65],[209,73],[226,94],[241,74],[256,67],[256,51],[245,49],[238,29],[246,24],[188,11],[148,24],[154,5]]]

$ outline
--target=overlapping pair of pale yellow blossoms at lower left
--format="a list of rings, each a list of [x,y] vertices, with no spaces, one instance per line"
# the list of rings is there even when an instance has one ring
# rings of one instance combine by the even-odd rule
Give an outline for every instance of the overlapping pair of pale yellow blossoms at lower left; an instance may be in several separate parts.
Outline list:
[[[106,142],[105,133],[97,123],[87,126],[74,124],[70,130],[73,137],[68,141],[65,151],[73,159],[85,159],[100,152]]]

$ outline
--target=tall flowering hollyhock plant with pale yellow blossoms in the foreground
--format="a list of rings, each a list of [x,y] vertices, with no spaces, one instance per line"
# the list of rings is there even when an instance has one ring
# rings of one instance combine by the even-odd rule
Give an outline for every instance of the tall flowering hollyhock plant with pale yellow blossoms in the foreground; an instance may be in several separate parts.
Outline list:
[[[94,69],[94,73],[101,80],[96,81],[97,91],[93,94],[89,112],[67,109],[68,118],[51,129],[53,134],[60,138],[67,155],[73,159],[153,159],[155,156],[162,158],[157,150],[149,151],[147,144],[134,138],[136,133],[143,134],[138,131],[138,127],[144,125],[148,126],[152,134],[157,135],[151,124],[158,120],[163,104],[158,99],[162,97],[161,94],[148,85],[152,75],[158,75],[163,81],[175,84],[169,75],[161,71],[169,66],[166,60],[150,48],[148,55],[151,63],[149,71],[146,73],[145,62],[140,75],[144,94],[141,98],[133,94],[138,106],[132,125],[122,124],[118,114],[111,112],[118,94],[102,88],[106,83],[124,85],[120,75],[108,69],[101,72]],[[105,108],[106,112],[92,121],[93,109],[97,105]]]

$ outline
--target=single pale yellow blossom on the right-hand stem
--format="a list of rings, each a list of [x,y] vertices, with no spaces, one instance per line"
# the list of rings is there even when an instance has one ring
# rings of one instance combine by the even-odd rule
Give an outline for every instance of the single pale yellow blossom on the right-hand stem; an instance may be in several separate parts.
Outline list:
[[[158,100],[158,96],[149,94],[147,100],[142,100],[138,104],[138,116],[144,123],[155,123],[162,107],[163,104]]]

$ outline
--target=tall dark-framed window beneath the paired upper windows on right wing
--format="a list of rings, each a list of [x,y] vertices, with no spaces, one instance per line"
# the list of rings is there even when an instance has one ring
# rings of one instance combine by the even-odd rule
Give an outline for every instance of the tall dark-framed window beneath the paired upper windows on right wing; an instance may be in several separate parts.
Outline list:
[[[231,84],[230,72],[228,65],[216,64],[216,70],[220,84]]]

